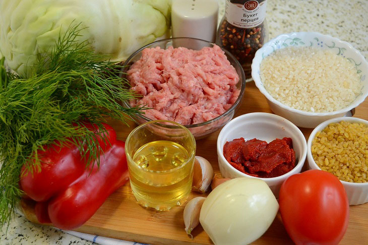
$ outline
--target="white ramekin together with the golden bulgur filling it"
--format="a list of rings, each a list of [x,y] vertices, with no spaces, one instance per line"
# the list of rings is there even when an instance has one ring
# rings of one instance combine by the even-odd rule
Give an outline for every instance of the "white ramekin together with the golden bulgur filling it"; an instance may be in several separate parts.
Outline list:
[[[350,205],[368,202],[368,121],[356,117],[324,121],[308,139],[307,159],[311,169],[340,179]]]

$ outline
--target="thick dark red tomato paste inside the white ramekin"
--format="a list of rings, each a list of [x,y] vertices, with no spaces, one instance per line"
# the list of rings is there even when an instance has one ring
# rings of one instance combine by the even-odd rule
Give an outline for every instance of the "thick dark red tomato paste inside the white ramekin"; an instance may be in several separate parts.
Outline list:
[[[257,139],[234,139],[226,142],[223,153],[231,166],[255,177],[277,177],[295,167],[292,140],[286,137],[273,140],[269,144]]]

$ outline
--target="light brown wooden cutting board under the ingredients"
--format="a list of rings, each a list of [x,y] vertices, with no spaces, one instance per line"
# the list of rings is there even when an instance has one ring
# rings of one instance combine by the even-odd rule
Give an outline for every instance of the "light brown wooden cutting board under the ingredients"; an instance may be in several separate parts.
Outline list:
[[[265,97],[254,82],[247,83],[242,105],[235,116],[250,112],[271,113]],[[354,116],[368,120],[368,99],[356,108]],[[120,140],[126,140],[135,127],[133,123],[128,128],[116,121],[109,121],[109,124],[116,130]],[[300,130],[308,140],[313,129]],[[198,140],[196,153],[208,159],[217,174],[220,173],[216,153],[219,132],[220,130]],[[306,165],[308,164],[305,162],[304,170]],[[192,193],[188,200],[196,196],[201,195]],[[136,203],[128,182],[113,193],[92,218],[76,231],[150,244],[212,244],[201,225],[192,232],[193,240],[187,236],[182,218],[184,207],[185,204],[165,212],[144,209]],[[279,213],[266,233],[252,244],[293,244],[282,225]],[[368,244],[368,203],[350,206],[349,225],[340,244]]]

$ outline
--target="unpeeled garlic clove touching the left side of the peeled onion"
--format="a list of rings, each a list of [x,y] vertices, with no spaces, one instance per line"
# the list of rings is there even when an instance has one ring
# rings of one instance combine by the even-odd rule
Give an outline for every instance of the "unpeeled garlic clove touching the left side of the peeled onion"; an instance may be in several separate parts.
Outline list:
[[[184,208],[183,218],[184,224],[186,225],[186,232],[193,239],[191,234],[192,230],[199,224],[199,215],[203,202],[206,200],[205,197],[196,197],[189,201]]]

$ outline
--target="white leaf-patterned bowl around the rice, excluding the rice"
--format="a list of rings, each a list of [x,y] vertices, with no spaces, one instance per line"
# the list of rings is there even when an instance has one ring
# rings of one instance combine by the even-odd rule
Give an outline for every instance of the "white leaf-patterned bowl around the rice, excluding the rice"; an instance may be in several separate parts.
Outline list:
[[[349,106],[332,112],[308,112],[297,110],[274,99],[267,92],[261,81],[260,64],[263,58],[275,50],[288,46],[314,46],[322,49],[329,49],[335,52],[336,55],[342,55],[349,59],[351,63],[355,63],[356,72],[359,74],[360,82],[363,84],[361,93]],[[361,55],[359,51],[353,48],[349,43],[318,32],[292,32],[281,34],[264,44],[262,48],[257,50],[253,59],[252,78],[261,93],[266,96],[267,102],[275,114],[281,115],[282,117],[292,121],[296,126],[303,128],[315,128],[325,120],[344,116],[348,111],[363,102],[368,96],[368,63],[364,59],[363,55]]]

